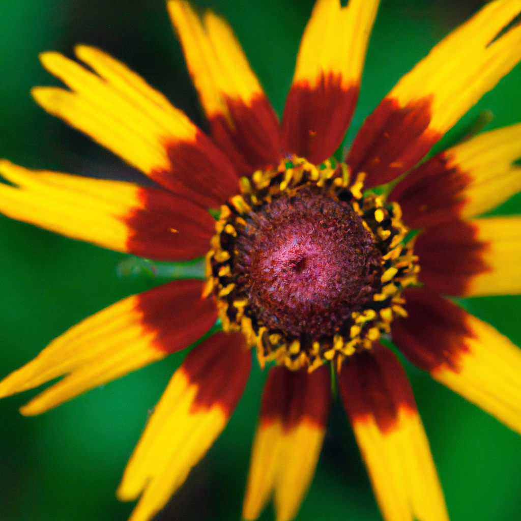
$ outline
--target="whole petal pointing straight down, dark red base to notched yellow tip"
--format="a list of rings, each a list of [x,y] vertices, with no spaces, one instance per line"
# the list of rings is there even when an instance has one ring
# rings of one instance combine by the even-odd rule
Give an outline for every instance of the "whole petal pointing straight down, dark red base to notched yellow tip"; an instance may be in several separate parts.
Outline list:
[[[244,519],[257,519],[272,493],[277,521],[295,517],[315,472],[330,401],[327,367],[311,374],[282,366],[270,369],[253,442]]]

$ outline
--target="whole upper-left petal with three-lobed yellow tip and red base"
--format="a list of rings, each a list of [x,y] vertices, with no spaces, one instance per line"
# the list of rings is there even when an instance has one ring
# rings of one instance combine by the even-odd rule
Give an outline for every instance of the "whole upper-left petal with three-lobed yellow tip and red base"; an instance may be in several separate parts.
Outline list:
[[[223,152],[165,96],[99,49],[78,45],[79,59],[40,55],[43,66],[71,89],[35,87],[47,112],[90,135],[147,176],[205,208],[238,193],[238,178]]]

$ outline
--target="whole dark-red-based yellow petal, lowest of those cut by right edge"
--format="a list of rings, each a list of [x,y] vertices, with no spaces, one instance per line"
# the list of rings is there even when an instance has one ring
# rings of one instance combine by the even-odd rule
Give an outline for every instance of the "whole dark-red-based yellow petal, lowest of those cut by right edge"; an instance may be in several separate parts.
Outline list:
[[[424,288],[404,293],[393,341],[415,365],[521,433],[521,350],[492,326]]]

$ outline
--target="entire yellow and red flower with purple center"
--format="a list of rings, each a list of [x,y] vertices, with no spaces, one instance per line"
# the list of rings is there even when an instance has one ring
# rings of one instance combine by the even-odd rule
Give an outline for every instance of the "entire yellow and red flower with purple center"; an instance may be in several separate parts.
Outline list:
[[[252,345],[275,367],[246,519],[271,494],[278,519],[295,515],[324,436],[329,364],[384,517],[446,518],[410,384],[379,339],[390,332],[416,365],[521,429],[519,351],[441,296],[519,293],[521,221],[475,217],[521,189],[512,165],[521,127],[480,134],[415,167],[521,59],[521,28],[498,36],[519,2],[492,2],[436,46],[367,118],[340,164],[329,157],[353,115],[378,2],[317,2],[280,128],[226,22],[212,13],[201,22],[178,0],[168,6],[212,138],[101,51],[76,48],[94,73],[44,53],[71,90],[36,88],[36,101],[163,190],[4,161],[13,185],[0,187],[0,209],[147,258],[206,255],[206,280],[173,281],[84,320],[0,393],[66,375],[22,408],[38,414],[187,348],[219,317],[223,331],[187,355],[125,471],[119,496],[141,495],[132,519],[157,512],[224,428]],[[208,208],[220,208],[217,222]]]

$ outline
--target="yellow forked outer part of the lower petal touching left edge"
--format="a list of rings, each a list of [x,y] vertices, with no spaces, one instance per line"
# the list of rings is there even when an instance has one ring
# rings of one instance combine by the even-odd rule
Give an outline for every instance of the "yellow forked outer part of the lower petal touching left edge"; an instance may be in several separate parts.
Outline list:
[[[32,416],[164,358],[168,353],[154,347],[155,334],[143,328],[137,309],[138,297],[131,296],[83,320],[5,378],[0,395],[32,389],[69,374],[21,408],[22,414]]]

